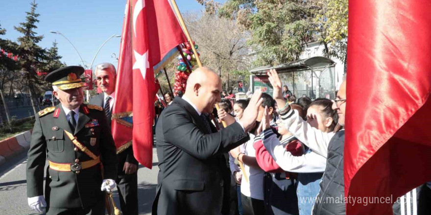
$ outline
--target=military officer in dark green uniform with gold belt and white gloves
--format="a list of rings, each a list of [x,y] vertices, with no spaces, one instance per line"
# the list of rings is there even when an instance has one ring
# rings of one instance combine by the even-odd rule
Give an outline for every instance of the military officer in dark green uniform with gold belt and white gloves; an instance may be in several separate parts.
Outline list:
[[[47,215],[104,215],[103,191],[116,186],[114,140],[103,108],[83,104],[83,72],[81,66],[67,66],[49,73],[45,81],[52,83],[60,104],[35,117],[27,197],[32,209],[41,212],[46,207]]]

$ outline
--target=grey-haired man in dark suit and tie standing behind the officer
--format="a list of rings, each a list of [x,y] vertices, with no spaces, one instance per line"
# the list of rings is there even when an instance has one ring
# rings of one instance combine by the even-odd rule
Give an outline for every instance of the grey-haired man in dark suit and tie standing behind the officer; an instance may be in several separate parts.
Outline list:
[[[90,100],[90,104],[104,107],[111,129],[111,112],[115,100],[117,72],[113,64],[102,63],[96,66],[96,81],[103,93]],[[123,215],[138,215],[138,161],[133,156],[131,142],[117,146],[118,177],[117,189]]]

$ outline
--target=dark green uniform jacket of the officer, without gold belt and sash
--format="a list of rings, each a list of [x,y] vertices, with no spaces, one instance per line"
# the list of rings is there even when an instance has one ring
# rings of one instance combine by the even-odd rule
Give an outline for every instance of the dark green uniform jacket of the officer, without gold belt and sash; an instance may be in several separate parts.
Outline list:
[[[75,151],[75,145],[64,130],[72,133],[61,104],[41,111],[35,116],[33,133],[27,161],[27,196],[43,195],[44,167],[46,158],[55,163],[74,163],[92,160],[83,151]],[[92,127],[90,127],[92,126]],[[48,207],[87,208],[100,201],[102,177],[117,178],[117,157],[114,140],[105,112],[97,106],[81,105],[73,134],[75,138],[103,164],[74,172],[59,172],[47,168],[45,198]]]

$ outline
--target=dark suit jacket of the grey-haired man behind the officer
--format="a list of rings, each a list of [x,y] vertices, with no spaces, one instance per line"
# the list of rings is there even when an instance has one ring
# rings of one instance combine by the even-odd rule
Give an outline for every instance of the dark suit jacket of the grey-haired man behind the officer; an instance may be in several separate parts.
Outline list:
[[[104,108],[103,98],[104,98],[104,93],[100,93],[97,96],[90,99],[90,104],[97,105]],[[111,119],[108,119],[108,125],[109,125],[109,129],[111,130]],[[135,159],[135,156],[133,155],[133,147],[131,146],[117,155],[118,155],[118,174],[119,175],[125,174],[125,172],[123,171],[125,162],[138,165],[138,161]]]

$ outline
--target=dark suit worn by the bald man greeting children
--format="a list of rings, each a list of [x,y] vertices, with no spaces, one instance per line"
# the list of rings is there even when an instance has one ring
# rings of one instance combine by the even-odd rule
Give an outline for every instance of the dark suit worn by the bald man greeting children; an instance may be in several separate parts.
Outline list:
[[[176,97],[156,126],[160,171],[153,215],[220,215],[227,168],[222,153],[249,139],[239,123],[211,133],[196,110]]]

